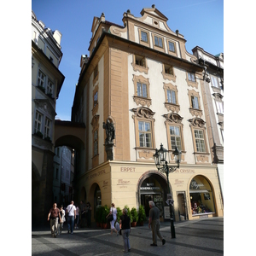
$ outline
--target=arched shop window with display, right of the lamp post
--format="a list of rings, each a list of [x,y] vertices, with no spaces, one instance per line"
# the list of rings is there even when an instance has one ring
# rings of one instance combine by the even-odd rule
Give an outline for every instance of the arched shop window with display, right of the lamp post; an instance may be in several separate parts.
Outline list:
[[[212,186],[206,177],[198,175],[192,178],[189,196],[192,216],[215,213]]]

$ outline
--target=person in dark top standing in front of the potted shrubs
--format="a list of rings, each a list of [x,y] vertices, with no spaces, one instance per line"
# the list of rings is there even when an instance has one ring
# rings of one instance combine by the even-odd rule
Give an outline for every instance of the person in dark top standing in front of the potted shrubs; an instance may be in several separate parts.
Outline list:
[[[123,241],[124,241],[124,253],[131,252],[131,246],[130,246],[130,240],[129,236],[131,233],[131,219],[127,215],[127,209],[123,209],[123,215],[119,219],[119,226],[121,229],[121,234],[123,236]]]

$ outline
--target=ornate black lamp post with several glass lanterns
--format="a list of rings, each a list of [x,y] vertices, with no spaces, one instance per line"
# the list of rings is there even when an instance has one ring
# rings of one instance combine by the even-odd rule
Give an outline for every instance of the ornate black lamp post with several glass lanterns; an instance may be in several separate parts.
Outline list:
[[[167,161],[166,161],[166,153],[167,150],[166,148],[163,147],[163,144],[160,144],[160,149],[155,149],[155,154],[154,156],[154,162],[155,166],[157,167],[158,171],[166,173],[167,177],[167,188],[168,188],[168,193],[171,194],[171,189],[169,187],[169,173],[170,172],[175,172],[177,168],[179,168],[179,163],[181,160],[181,151],[177,149],[177,146],[175,148],[175,151],[172,153],[175,156],[175,162],[177,163],[177,166],[168,166]],[[170,219],[171,219],[171,234],[172,238],[176,238],[175,236],[175,228],[173,224],[173,217],[174,217],[174,211],[173,211],[173,199],[170,201],[169,204],[169,210],[170,210]]]

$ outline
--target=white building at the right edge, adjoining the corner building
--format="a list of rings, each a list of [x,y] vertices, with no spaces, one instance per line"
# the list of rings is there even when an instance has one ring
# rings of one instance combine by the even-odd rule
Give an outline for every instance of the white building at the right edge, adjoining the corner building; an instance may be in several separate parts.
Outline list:
[[[212,163],[217,165],[224,201],[224,54],[209,54],[201,47],[192,49],[198,63],[205,68],[208,82],[202,84],[209,147]]]

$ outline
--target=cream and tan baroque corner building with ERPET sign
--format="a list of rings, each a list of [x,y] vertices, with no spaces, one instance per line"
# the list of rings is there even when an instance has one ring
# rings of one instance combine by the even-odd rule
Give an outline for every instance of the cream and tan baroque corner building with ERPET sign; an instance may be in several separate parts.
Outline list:
[[[168,184],[175,219],[224,215],[202,91],[205,68],[167,20],[154,5],[141,17],[127,10],[123,26],[103,13],[93,19],[90,56],[81,55],[72,108],[72,121],[86,127],[76,160],[76,201],[90,201],[92,218],[97,206],[112,202],[121,209],[143,205],[148,215],[149,200],[161,220],[169,218],[167,179],[153,157],[160,143],[170,164],[175,147],[182,151]]]

